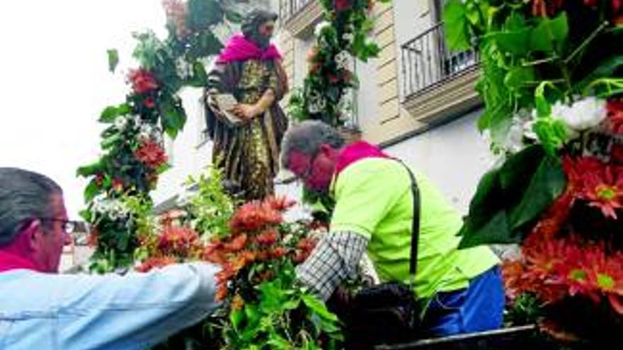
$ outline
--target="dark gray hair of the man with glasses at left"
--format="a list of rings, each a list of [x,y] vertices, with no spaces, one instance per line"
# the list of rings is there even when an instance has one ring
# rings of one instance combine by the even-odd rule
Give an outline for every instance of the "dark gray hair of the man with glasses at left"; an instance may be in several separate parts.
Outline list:
[[[25,223],[52,214],[52,195],[62,189],[49,177],[0,168],[0,247],[13,242]]]

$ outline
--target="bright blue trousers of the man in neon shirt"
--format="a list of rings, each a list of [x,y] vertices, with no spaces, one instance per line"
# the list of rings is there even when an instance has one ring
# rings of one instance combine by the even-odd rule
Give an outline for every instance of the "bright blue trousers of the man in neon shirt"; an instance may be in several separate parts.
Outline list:
[[[500,267],[469,281],[469,287],[433,296],[423,325],[430,335],[482,332],[502,327],[504,288]]]

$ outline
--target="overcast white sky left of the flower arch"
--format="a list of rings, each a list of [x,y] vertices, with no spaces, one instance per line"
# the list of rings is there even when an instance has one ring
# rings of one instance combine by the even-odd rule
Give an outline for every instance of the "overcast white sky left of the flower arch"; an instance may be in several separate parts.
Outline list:
[[[52,177],[76,218],[86,184],[76,168],[98,156],[103,107],[123,101],[132,31],[164,35],[161,1],[16,0],[1,8],[0,166]],[[120,50],[115,75],[109,48]]]

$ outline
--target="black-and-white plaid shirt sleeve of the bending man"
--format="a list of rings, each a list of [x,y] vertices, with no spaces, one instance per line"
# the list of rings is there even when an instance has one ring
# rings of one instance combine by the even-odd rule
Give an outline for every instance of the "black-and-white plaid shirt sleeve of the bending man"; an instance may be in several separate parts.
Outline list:
[[[358,233],[328,233],[297,267],[297,278],[327,301],[343,280],[357,276],[367,243],[368,239]]]

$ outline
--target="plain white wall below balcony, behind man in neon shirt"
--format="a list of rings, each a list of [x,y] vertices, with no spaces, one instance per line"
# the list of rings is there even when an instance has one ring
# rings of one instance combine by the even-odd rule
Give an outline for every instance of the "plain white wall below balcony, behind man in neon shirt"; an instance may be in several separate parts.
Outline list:
[[[480,177],[493,162],[476,127],[480,114],[471,112],[385,151],[428,175],[457,209],[467,213]]]

